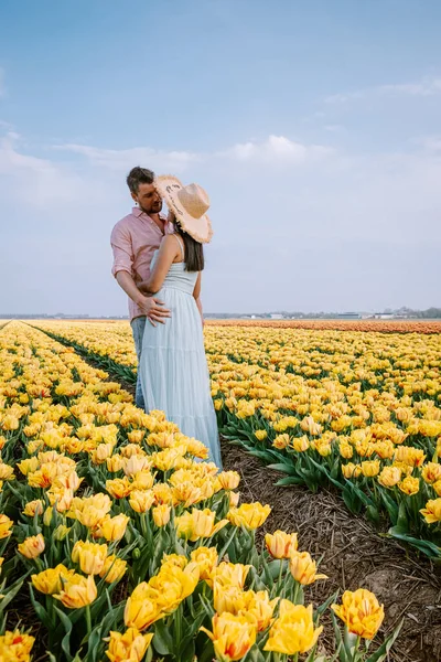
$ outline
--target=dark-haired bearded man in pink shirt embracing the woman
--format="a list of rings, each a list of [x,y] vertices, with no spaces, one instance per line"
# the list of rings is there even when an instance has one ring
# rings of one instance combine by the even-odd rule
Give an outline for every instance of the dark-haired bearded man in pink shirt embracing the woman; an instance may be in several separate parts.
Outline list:
[[[131,214],[119,221],[110,237],[114,250],[111,273],[129,297],[130,323],[135,339],[138,362],[142,352],[142,337],[146,320],[153,327],[164,323],[170,311],[155,297],[147,297],[139,291],[137,282],[148,280],[154,252],[165,234],[173,233],[173,225],[161,214],[162,199],[154,186],[154,173],[147,168],[132,168],[127,177],[136,206]],[[136,403],[144,408],[144,401],[137,381]]]

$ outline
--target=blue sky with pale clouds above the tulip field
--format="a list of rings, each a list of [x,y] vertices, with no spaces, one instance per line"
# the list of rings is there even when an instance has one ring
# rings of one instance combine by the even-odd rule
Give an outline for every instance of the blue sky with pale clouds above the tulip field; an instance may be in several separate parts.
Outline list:
[[[133,166],[211,197],[207,312],[441,307],[439,0],[1,0],[0,313],[127,313]]]

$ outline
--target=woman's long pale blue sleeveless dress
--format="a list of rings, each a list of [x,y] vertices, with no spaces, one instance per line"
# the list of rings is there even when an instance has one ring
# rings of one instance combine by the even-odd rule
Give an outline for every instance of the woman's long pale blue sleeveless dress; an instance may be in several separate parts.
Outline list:
[[[176,237],[183,248],[181,241]],[[152,268],[158,257],[155,252]],[[193,297],[197,273],[173,263],[155,295],[170,310],[164,324],[147,321],[139,364],[146,412],[160,409],[187,437],[208,448],[222,468],[219,436],[204,349],[201,314]]]

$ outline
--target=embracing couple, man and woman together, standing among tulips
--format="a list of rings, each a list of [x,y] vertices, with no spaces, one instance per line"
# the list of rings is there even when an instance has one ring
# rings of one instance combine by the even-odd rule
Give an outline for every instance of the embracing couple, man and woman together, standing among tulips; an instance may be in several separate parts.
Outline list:
[[[139,167],[127,184],[136,206],[115,225],[110,242],[112,274],[129,297],[137,405],[164,412],[222,468],[201,303],[203,244],[213,234],[208,196],[197,184],[183,186]],[[161,213],[164,201],[168,217]]]

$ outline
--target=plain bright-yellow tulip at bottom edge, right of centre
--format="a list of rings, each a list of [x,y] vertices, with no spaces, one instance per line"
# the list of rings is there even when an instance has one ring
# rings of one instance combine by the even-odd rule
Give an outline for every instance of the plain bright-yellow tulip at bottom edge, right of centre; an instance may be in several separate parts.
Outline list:
[[[312,605],[303,607],[282,600],[263,650],[286,655],[305,653],[315,645],[322,630],[323,626],[314,628]]]

